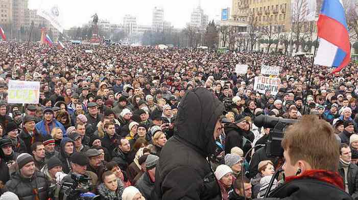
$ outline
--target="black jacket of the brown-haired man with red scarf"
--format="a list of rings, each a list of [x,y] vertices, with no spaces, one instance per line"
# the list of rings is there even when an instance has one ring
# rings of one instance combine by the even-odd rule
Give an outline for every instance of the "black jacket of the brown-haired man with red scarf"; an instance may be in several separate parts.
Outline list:
[[[353,199],[349,194],[336,186],[314,179],[293,180],[272,191],[269,197],[284,198],[285,200]]]

